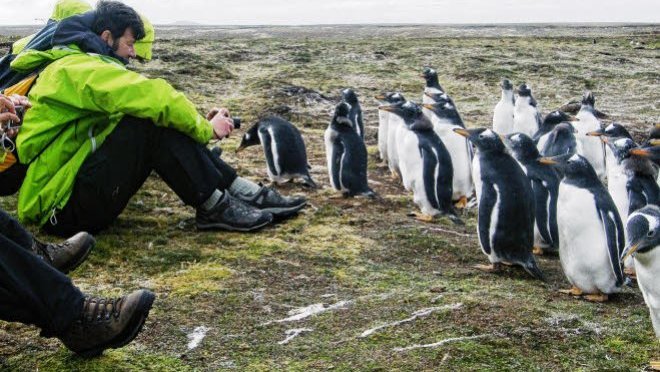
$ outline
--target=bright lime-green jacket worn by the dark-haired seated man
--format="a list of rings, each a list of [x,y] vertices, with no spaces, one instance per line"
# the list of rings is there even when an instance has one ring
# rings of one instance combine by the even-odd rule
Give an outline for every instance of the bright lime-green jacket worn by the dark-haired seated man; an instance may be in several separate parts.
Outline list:
[[[119,61],[76,46],[27,50],[11,67],[32,70],[50,62],[30,90],[17,137],[22,163],[30,163],[18,197],[18,217],[43,225],[62,209],[87,156],[103,144],[124,115],[150,119],[199,143],[213,134],[183,93],[162,79],[148,79]]]

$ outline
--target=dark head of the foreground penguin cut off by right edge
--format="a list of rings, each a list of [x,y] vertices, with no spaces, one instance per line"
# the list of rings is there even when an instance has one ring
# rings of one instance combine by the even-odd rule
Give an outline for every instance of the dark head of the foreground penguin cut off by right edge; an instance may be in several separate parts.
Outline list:
[[[628,217],[626,223],[626,248],[622,259],[651,251],[660,244],[660,208],[649,204]]]

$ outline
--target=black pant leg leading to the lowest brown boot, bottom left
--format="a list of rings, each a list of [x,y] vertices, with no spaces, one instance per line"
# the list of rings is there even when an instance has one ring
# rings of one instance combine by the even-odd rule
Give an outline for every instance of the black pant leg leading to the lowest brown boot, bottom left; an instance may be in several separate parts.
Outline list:
[[[33,324],[42,335],[56,336],[80,316],[83,302],[68,277],[0,235],[0,319]]]

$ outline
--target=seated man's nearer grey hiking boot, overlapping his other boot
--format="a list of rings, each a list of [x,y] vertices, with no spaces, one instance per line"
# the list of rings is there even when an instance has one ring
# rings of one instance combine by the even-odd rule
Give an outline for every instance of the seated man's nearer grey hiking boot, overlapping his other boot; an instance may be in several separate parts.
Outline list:
[[[239,199],[222,194],[222,198],[210,210],[197,208],[195,216],[200,230],[221,229],[228,231],[254,231],[273,221],[273,215],[254,208]]]

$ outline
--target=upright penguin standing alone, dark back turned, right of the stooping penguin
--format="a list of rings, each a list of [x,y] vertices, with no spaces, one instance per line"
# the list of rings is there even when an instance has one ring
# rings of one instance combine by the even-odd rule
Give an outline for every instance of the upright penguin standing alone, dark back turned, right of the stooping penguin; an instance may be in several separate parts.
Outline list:
[[[367,184],[367,148],[353,128],[346,102],[335,107],[335,113],[325,131],[325,154],[330,184],[344,196],[376,194]]]

